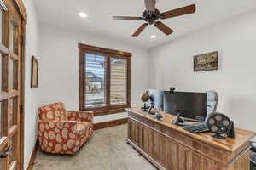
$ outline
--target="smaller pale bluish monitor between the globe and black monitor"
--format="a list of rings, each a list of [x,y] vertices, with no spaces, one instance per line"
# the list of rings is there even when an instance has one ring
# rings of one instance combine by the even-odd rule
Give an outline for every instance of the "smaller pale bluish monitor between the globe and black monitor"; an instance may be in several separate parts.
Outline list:
[[[160,111],[164,111],[164,91],[162,90],[148,90],[150,95],[150,104],[154,105],[154,108]]]

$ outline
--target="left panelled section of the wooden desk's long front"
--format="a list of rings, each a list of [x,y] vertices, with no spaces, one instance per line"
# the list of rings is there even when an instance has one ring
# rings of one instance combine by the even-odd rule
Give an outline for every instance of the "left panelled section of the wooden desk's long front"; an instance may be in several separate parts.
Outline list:
[[[178,144],[141,123],[128,120],[128,138],[148,156],[168,169],[177,170]]]

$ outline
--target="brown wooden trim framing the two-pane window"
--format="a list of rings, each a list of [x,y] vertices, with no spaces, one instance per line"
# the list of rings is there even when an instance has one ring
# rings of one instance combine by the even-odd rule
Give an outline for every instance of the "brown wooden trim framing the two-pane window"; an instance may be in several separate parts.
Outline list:
[[[106,85],[106,104],[104,107],[96,108],[84,108],[84,99],[86,94],[86,88],[84,89],[84,54],[86,52],[90,54],[101,54],[106,57],[107,71],[106,75],[108,78]],[[107,55],[106,55],[107,54]],[[131,107],[131,53],[109,49],[109,48],[99,48],[95,46],[90,46],[87,44],[79,43],[79,110],[80,111],[95,111],[95,116],[110,115],[119,112],[124,112],[125,108]],[[127,59],[127,104],[126,105],[109,105],[110,103],[110,59]]]

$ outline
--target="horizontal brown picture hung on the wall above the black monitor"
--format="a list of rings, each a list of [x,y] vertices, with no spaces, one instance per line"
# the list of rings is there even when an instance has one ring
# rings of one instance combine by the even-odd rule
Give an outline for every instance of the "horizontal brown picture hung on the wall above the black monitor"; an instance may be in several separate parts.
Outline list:
[[[194,71],[218,70],[218,51],[194,56]]]

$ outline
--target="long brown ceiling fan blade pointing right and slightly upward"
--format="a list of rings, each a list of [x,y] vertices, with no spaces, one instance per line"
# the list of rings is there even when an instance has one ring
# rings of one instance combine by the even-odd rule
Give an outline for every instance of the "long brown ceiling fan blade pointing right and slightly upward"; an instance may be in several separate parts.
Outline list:
[[[195,13],[196,7],[195,4],[183,7],[183,8],[177,8],[170,11],[167,11],[165,13],[160,14],[161,19],[168,19],[176,16],[181,16],[184,14],[193,14]]]

